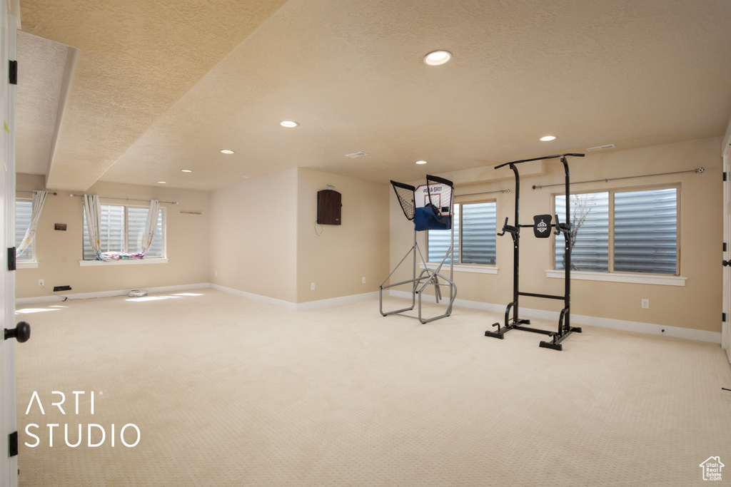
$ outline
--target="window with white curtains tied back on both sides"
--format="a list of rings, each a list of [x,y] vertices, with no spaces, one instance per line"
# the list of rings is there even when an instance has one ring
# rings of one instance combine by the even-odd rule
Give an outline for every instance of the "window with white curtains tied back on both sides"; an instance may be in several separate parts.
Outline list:
[[[147,221],[148,207],[132,207],[121,204],[102,204],[100,229],[102,252],[137,253],[142,251],[140,241]],[[164,208],[157,215],[157,230],[145,258],[164,257]],[[84,260],[93,261],[96,256],[89,244],[86,213],[83,214]]]

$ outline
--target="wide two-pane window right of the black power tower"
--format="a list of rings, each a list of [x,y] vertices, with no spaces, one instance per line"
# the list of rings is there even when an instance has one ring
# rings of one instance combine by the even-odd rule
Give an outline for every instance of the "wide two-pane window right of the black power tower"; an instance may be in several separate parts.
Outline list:
[[[572,194],[572,270],[678,275],[678,188]],[[556,213],[566,215],[566,196]],[[565,240],[556,237],[555,268]]]

